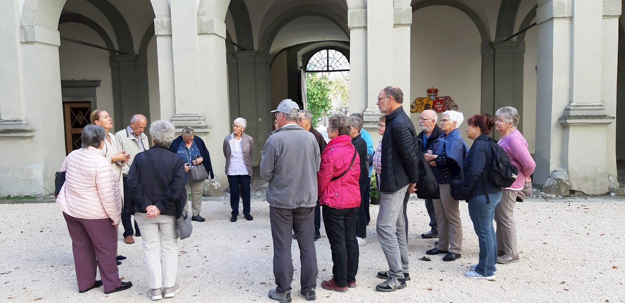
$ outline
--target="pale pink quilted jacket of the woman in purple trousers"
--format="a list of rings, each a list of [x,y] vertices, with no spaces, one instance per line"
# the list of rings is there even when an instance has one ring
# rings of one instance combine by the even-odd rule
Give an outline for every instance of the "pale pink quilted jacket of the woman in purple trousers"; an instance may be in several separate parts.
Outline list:
[[[111,218],[121,221],[119,180],[104,151],[95,147],[74,150],[61,165],[65,183],[56,204],[64,213],[79,219]]]

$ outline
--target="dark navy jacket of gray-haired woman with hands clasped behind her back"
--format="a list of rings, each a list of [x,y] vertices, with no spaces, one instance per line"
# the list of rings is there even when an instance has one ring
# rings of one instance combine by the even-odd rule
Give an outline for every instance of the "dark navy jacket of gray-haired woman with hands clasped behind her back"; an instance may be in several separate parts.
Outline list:
[[[161,214],[179,218],[187,202],[183,159],[156,146],[138,153],[128,172],[128,188],[133,196],[126,204],[129,213],[147,213],[146,207],[154,205]]]

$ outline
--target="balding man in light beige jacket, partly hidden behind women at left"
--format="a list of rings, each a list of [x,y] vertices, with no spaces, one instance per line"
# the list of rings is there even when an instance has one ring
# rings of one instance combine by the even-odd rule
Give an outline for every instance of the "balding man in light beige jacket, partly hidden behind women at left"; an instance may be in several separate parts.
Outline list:
[[[130,213],[126,211],[125,207],[128,204],[132,204],[130,202],[133,198],[128,188],[128,171],[130,170],[130,166],[133,165],[134,157],[138,153],[149,150],[150,148],[148,145],[148,136],[143,133],[147,125],[148,119],[146,119],[146,116],[137,113],[130,119],[130,125],[128,125],[128,127],[115,133],[118,148],[126,151],[126,153],[130,155],[128,163],[121,168],[121,173],[124,178],[124,207],[121,210],[121,223],[124,226],[124,243],[126,244],[134,243],[133,223],[130,219]],[[140,237],[141,231],[139,231],[137,221],[134,221],[134,229],[134,235]]]

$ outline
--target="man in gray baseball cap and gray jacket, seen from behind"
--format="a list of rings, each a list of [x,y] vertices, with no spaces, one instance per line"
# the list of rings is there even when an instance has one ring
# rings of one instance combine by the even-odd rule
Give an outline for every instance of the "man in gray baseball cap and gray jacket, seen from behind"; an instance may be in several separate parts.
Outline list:
[[[291,302],[291,231],[297,237],[301,260],[301,294],[316,299],[317,253],[314,247],[314,207],[317,204],[319,145],[311,132],[297,125],[299,107],[291,99],[276,110],[277,129],[262,150],[261,177],[269,182],[267,202],[274,244],[273,270],[277,287],[269,297]]]

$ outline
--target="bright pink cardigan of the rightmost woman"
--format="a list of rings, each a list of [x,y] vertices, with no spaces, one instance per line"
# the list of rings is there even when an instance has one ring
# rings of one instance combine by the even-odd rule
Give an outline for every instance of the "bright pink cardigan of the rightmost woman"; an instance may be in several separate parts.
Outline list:
[[[536,162],[534,162],[532,156],[529,155],[527,141],[523,135],[521,135],[521,132],[515,129],[505,137],[501,137],[498,144],[500,147],[504,148],[512,164],[519,170],[516,181],[512,183],[512,186],[506,188],[506,190],[522,190],[525,184],[525,178],[532,175],[536,168]]]

